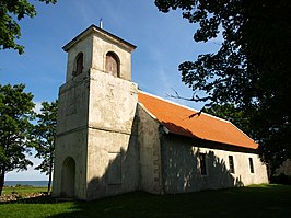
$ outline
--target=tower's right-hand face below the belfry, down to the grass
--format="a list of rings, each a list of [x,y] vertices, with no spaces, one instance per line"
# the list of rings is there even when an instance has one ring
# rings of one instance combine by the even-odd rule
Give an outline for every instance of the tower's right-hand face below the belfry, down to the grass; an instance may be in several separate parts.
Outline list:
[[[137,84],[91,69],[88,198],[138,188]]]

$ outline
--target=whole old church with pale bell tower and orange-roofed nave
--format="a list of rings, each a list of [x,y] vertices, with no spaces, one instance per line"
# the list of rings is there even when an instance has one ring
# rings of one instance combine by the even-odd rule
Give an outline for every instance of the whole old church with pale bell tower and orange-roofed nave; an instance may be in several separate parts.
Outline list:
[[[95,25],[63,46],[53,196],[268,183],[258,145],[232,123],[140,91],[131,81],[135,49]]]

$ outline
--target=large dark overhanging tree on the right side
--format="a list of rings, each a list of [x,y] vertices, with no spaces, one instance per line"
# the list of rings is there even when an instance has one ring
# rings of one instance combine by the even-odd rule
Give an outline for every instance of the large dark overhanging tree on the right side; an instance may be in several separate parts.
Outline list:
[[[261,160],[273,171],[291,158],[291,2],[289,0],[155,0],[199,23],[194,39],[223,37],[217,53],[179,65],[193,101],[233,104],[249,117]],[[199,93],[199,94],[197,94]]]

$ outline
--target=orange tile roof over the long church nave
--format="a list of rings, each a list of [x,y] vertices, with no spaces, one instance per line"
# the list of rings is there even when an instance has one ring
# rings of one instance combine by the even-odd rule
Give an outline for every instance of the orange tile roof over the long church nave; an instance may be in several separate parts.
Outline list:
[[[197,111],[141,91],[139,91],[138,99],[172,134],[251,149],[256,149],[258,146],[231,122],[206,113],[189,118]]]

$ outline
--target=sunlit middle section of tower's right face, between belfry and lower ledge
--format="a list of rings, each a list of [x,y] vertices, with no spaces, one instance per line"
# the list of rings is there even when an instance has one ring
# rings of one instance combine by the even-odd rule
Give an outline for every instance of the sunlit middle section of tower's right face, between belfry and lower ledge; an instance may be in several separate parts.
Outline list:
[[[89,126],[131,134],[137,84],[94,69],[90,74]]]

